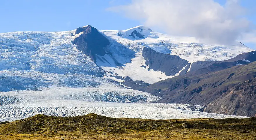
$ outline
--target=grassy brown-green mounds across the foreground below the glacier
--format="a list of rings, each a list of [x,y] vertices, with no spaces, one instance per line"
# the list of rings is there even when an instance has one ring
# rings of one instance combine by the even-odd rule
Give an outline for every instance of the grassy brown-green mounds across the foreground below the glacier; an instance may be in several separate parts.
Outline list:
[[[78,117],[33,117],[0,124],[2,140],[194,140],[256,139],[256,118],[145,120],[109,118],[90,113]]]

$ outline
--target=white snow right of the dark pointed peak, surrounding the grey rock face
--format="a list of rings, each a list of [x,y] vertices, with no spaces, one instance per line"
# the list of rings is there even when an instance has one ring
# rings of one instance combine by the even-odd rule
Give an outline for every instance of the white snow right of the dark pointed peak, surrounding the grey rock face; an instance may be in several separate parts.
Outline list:
[[[144,38],[129,36],[133,31],[141,33]],[[240,42],[231,45],[199,43],[194,37],[161,34],[145,26],[137,26],[123,31],[101,30],[100,32],[111,42],[108,50],[113,55],[101,57],[101,60],[105,58],[108,62],[97,60],[97,64],[104,71],[111,72],[106,72],[107,76],[105,77],[118,82],[123,82],[123,80],[115,76],[121,76],[123,78],[128,76],[133,80],[141,80],[152,84],[179,75],[181,71],[173,76],[166,76],[161,71],[148,71],[148,67],[146,69],[140,67],[145,65],[141,52],[144,47],[150,47],[159,53],[178,55],[182,59],[188,60],[191,64],[196,61],[228,60],[236,57],[238,54],[253,51]],[[116,62],[123,64],[123,66],[116,65]],[[188,68],[188,71],[190,68]]]

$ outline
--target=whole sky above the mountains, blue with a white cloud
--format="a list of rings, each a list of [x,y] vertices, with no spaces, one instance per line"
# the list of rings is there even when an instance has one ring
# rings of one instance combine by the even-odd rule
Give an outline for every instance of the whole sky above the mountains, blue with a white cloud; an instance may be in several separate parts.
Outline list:
[[[237,40],[256,50],[255,5],[255,0],[1,0],[0,33],[146,25],[209,43]]]

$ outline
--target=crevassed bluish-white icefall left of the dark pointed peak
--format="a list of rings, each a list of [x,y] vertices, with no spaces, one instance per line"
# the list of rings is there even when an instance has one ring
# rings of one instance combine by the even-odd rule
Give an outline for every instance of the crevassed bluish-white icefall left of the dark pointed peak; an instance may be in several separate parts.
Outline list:
[[[100,78],[104,72],[71,43],[74,31],[1,33],[0,91],[83,88],[109,82]]]

